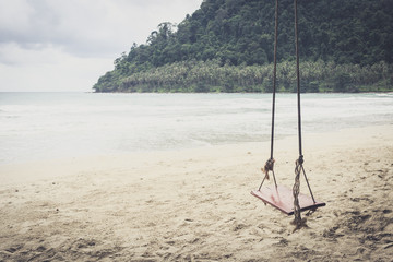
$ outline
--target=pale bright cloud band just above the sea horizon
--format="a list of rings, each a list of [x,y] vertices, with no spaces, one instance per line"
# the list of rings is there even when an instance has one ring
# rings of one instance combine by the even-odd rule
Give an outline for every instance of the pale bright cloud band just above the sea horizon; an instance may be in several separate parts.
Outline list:
[[[9,45],[5,50],[12,63],[0,63],[0,91],[88,92],[98,76],[111,69],[108,59],[80,58],[55,46],[26,50]]]

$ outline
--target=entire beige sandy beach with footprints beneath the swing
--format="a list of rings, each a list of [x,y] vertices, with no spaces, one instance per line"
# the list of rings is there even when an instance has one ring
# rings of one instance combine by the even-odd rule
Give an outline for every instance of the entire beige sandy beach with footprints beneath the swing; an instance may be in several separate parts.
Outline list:
[[[393,126],[303,143],[326,206],[295,233],[250,194],[270,143],[2,165],[0,261],[392,261]],[[279,184],[297,157],[297,138],[276,141]]]

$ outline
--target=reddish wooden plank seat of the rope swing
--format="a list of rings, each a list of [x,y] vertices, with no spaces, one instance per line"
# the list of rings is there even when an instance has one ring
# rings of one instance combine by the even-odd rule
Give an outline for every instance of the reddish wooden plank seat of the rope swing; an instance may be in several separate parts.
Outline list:
[[[261,190],[252,190],[251,194],[261,199],[264,203],[267,203],[287,215],[294,214],[294,195],[293,191],[287,187],[263,187]],[[312,201],[307,194],[299,193],[300,211],[317,210],[319,206],[326,205],[323,202]]]

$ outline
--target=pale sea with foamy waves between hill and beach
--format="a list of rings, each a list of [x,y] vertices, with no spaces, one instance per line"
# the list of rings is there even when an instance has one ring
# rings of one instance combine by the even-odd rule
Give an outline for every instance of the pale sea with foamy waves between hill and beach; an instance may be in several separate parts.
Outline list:
[[[270,140],[271,94],[0,93],[0,165]],[[393,94],[302,94],[302,131],[393,123]],[[276,96],[276,138],[297,134]]]

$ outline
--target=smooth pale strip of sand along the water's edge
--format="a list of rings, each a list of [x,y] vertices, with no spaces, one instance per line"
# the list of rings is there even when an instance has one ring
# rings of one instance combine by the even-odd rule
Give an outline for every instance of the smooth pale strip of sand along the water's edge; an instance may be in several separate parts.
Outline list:
[[[319,133],[303,133],[302,134],[302,147],[305,153],[305,160],[309,151],[321,150],[326,146],[340,146],[340,141],[335,136],[342,136],[345,143],[361,144],[366,146],[368,144],[365,140],[359,140],[354,133],[382,133],[383,135],[392,134],[390,130],[393,130],[393,124],[383,126],[369,126],[361,128],[346,128],[332,132],[319,132]],[[327,141],[324,142],[324,141]],[[337,143],[336,143],[337,142]],[[92,170],[104,170],[116,168],[116,166],[130,167],[138,165],[139,162],[146,162],[147,159],[167,160],[176,158],[181,162],[190,157],[201,157],[204,152],[209,152],[213,157],[223,157],[224,154],[238,154],[240,152],[251,153],[253,152],[260,155],[261,165],[270,157],[270,140],[262,142],[240,142],[222,145],[204,145],[198,147],[180,148],[180,150],[157,150],[157,151],[135,151],[122,154],[97,154],[97,155],[84,155],[84,156],[68,156],[61,158],[47,158],[39,160],[22,160],[20,163],[5,163],[0,165],[0,184],[7,186],[19,182],[34,182],[43,179],[59,178],[62,176],[74,176],[79,172]],[[327,145],[329,144],[329,145]],[[274,154],[287,154],[290,155],[290,160],[295,162],[298,157],[298,138],[296,135],[285,135],[274,141]],[[209,158],[209,157],[203,157]],[[266,158],[266,159],[265,159]],[[276,157],[275,157],[276,158]],[[130,163],[129,159],[132,159]],[[157,160],[153,160],[156,164]],[[57,167],[63,167],[57,169]],[[64,168],[67,167],[67,168]],[[21,176],[23,174],[35,171],[36,177]],[[50,174],[53,174],[51,177]],[[56,172],[56,174],[55,174]]]

